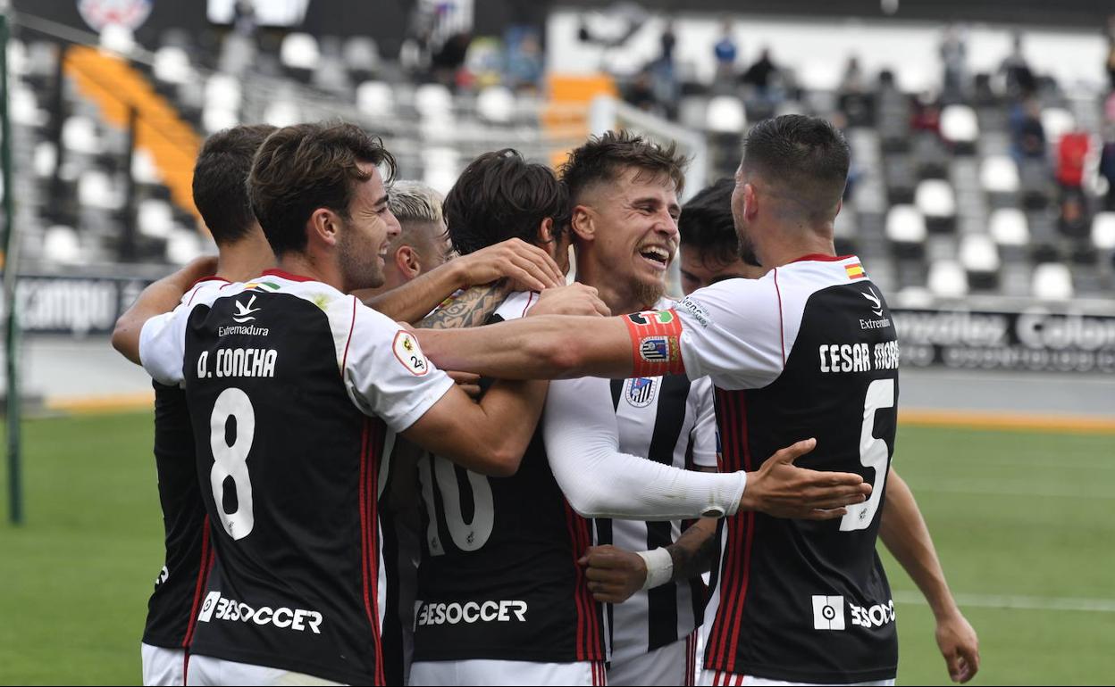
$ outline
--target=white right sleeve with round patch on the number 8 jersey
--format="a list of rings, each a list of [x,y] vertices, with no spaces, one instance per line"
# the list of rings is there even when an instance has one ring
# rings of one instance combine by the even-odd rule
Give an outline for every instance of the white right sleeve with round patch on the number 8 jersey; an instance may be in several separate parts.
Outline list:
[[[349,305],[330,308],[334,322],[346,316],[351,322],[339,351],[345,386],[362,412],[405,432],[449,391],[453,380],[423,354],[410,332],[355,297]]]

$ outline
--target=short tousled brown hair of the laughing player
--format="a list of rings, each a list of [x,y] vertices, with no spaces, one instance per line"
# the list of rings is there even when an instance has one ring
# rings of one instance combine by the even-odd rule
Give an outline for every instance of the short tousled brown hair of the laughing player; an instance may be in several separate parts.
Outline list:
[[[649,177],[666,176],[678,195],[685,189],[689,160],[678,153],[677,144],[661,146],[629,131],[604,131],[593,136],[569,155],[561,166],[561,179],[575,204],[585,188],[599,183],[614,183],[628,168]]]

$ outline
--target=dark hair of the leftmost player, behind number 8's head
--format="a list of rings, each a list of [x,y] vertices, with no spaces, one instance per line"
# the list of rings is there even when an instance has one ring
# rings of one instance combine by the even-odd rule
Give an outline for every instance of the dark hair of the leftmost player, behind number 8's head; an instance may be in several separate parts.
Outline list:
[[[219,246],[234,244],[252,229],[248,175],[260,145],[277,130],[266,124],[217,131],[205,139],[194,163],[194,205]]]

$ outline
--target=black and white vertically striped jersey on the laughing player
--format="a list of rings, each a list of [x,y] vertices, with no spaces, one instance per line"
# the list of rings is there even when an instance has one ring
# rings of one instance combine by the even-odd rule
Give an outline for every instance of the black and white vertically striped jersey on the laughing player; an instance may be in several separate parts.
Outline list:
[[[661,300],[656,310],[673,303]],[[599,381],[591,377],[551,382],[545,422],[550,431],[561,423],[556,413],[566,403],[594,393]],[[615,423],[565,431],[615,432],[621,453],[638,455],[676,468],[717,467],[716,413],[712,384],[708,379],[690,382],[685,376],[612,380]],[[554,457],[551,457],[554,460]],[[673,543],[683,527],[680,521],[597,519],[598,543],[641,551]],[[619,605],[608,605],[612,632],[612,664],[637,658],[685,638],[700,625],[706,589],[700,578],[670,582],[636,592]]]

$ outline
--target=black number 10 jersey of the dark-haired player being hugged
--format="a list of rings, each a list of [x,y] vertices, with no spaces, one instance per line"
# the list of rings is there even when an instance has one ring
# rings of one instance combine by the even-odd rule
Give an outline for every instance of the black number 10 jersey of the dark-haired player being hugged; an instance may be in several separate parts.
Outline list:
[[[514,293],[493,321],[537,301]],[[570,508],[536,431],[518,472],[476,474],[440,457],[418,463],[423,556],[415,603],[415,661],[600,661],[601,606],[576,561],[591,521]]]

